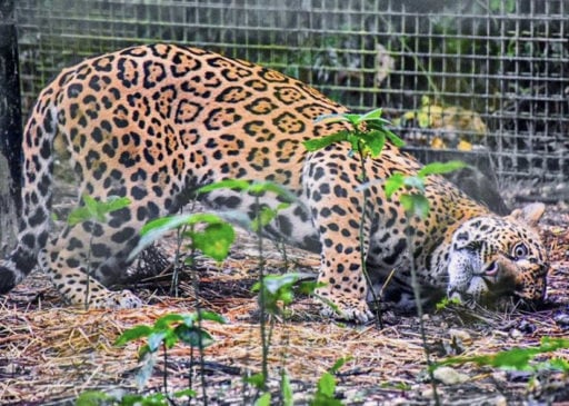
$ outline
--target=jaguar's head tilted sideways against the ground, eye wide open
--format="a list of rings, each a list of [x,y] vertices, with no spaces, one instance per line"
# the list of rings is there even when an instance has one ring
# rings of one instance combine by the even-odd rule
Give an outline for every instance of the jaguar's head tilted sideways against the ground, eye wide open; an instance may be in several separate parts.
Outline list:
[[[449,298],[491,303],[513,295],[530,303],[546,297],[548,255],[535,229],[545,210],[532,204],[509,216],[481,216],[461,225],[449,252]]]

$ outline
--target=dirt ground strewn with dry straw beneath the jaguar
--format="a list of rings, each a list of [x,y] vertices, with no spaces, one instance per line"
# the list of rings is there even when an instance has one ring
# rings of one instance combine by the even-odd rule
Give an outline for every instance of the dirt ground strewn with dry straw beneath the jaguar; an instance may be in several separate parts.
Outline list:
[[[549,206],[541,221],[550,247],[548,304],[528,311],[475,311],[450,307],[423,317],[431,358],[482,355],[539,344],[541,337],[569,336],[569,209]],[[64,405],[89,389],[117,394],[136,392],[137,344],[113,346],[126,329],[168,313],[190,313],[200,306],[223,315],[228,323],[206,323],[214,337],[204,357],[209,404],[253,404],[254,390],[243,377],[260,370],[257,301],[250,287],[257,275],[257,244],[239,235],[231,258],[199,265],[199,294],[189,275],[180,280],[180,297],[168,295],[168,270],[138,283],[133,290],[148,303],[132,310],[82,310],[66,306],[41,274],[33,274],[9,295],[0,297],[0,404]],[[281,254],[268,242],[267,267],[283,270]],[[315,271],[318,258],[288,249],[289,270]],[[383,326],[357,326],[322,319],[318,307],[299,297],[284,320],[278,320],[270,347],[272,404],[279,404],[279,374],[291,379],[296,404],[308,404],[318,378],[339,358],[350,360],[337,374],[337,398],[346,405],[431,405],[433,389],[426,373],[425,351],[416,316],[388,308]],[[192,385],[201,397],[201,377],[190,364],[190,348],[176,346],[167,360],[170,389]],[[569,362],[569,349],[549,357]],[[537,364],[535,370],[502,370],[466,364],[439,376],[437,394],[445,405],[569,405],[569,377]],[[162,389],[163,359],[159,357],[144,390]],[[455,373],[455,374],[453,374]],[[455,379],[456,378],[456,379]],[[452,380],[457,380],[453,383]],[[202,400],[193,400],[202,404]],[[178,400],[177,404],[183,404]]]

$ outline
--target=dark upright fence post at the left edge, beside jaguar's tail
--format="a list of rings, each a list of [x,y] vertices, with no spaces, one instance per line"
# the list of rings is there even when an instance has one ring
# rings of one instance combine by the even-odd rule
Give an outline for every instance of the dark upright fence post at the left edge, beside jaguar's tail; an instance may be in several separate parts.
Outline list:
[[[13,0],[0,1],[0,257],[14,247],[21,212],[22,121]]]

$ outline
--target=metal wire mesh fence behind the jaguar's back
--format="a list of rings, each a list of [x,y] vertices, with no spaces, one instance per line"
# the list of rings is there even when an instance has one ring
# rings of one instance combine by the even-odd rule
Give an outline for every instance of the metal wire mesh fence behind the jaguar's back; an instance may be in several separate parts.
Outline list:
[[[569,0],[19,0],[23,107],[62,67],[174,41],[248,59],[411,148],[490,156],[497,175],[569,177]]]

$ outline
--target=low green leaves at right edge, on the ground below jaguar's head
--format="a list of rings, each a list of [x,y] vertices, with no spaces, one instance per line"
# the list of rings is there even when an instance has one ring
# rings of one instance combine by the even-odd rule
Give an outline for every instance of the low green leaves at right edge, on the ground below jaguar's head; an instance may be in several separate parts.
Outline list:
[[[531,364],[530,362],[540,354],[552,353],[558,349],[569,348],[569,339],[568,338],[551,338],[543,337],[541,338],[540,345],[538,347],[528,347],[528,348],[512,348],[503,351],[498,351],[496,354],[489,355],[477,355],[470,357],[451,357],[447,358],[440,363],[436,363],[431,366],[431,368],[437,368],[443,365],[463,365],[466,363],[475,363],[478,366],[490,366],[495,368],[503,368],[503,369],[516,369],[516,370],[530,370],[535,372],[540,367],[548,367],[560,369],[563,373],[569,373],[569,364],[562,359],[555,359],[549,363],[545,363],[541,365]]]

